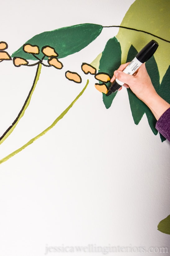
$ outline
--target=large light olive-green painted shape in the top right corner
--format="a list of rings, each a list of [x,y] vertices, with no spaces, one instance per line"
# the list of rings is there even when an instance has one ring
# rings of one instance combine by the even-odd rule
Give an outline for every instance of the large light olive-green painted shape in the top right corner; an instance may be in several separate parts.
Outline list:
[[[155,39],[159,43],[158,51],[154,57],[158,65],[160,81],[169,66],[170,52],[170,2],[168,0],[136,0],[126,12],[121,26],[136,28],[139,31],[120,28],[116,38],[122,49],[122,63],[126,62],[131,45],[139,52],[147,42]],[[140,32],[150,32],[152,35]],[[165,39],[163,41],[158,37]],[[126,40],[125,40],[126,38]]]

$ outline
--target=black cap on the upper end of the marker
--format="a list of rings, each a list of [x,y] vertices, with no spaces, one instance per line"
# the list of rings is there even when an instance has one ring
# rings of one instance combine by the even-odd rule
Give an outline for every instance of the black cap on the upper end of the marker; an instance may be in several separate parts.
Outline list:
[[[156,49],[158,48],[159,44],[155,40],[151,40],[143,49],[136,55],[138,61],[144,63],[148,61]]]

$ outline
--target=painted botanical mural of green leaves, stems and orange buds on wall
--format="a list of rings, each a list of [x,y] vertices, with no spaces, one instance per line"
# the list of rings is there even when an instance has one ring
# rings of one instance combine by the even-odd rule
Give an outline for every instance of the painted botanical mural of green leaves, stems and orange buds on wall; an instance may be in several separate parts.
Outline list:
[[[156,4],[156,2],[158,2],[158,4]],[[25,99],[24,105],[21,106],[21,110],[15,120],[11,120],[11,126],[0,135],[0,144],[2,144],[16,128],[20,119],[24,116],[25,110],[28,109],[29,111],[29,104],[34,89],[36,86],[40,86],[37,85],[37,82],[41,75],[41,67],[44,66],[58,70],[64,69],[62,58],[73,55],[87,47],[106,27],[119,27],[117,36],[110,37],[108,42],[106,42],[103,52],[99,52],[99,55],[93,62],[86,63],[82,60],[81,71],[87,75],[86,81],[82,80],[80,72],[78,73],[76,70],[72,70],[71,67],[70,70],[65,70],[65,77],[63,79],[84,85],[82,91],[73,99],[71,104],[59,116],[54,116],[53,123],[49,124],[45,130],[42,130],[41,133],[33,137],[26,144],[1,159],[0,164],[19,153],[21,150],[24,150],[53,128],[57,122],[67,114],[76,101],[83,96],[84,91],[90,83],[90,76],[94,76],[96,79],[96,83],[93,86],[101,93],[104,106],[106,109],[110,108],[110,106],[114,104],[114,98],[117,96],[117,92],[106,96],[111,85],[110,79],[113,76],[113,72],[121,63],[131,61],[136,56],[137,52],[152,39],[158,41],[160,51],[156,52],[154,56],[146,62],[146,68],[155,90],[164,100],[170,103],[170,61],[167,54],[170,50],[170,36],[168,34],[168,25],[170,23],[168,22],[168,9],[166,8],[167,1],[154,1],[154,9],[152,4],[153,1],[148,3],[146,0],[136,0],[127,11],[120,26],[114,24],[102,26],[99,24],[84,23],[57,28],[53,31],[41,32],[30,38],[12,54],[7,52],[7,42],[0,42],[0,62],[11,61],[11,65],[15,67],[25,66],[25,68],[29,68],[29,66],[37,66],[34,82],[30,84],[30,91]],[[142,10],[145,9],[146,6],[148,13],[146,15],[148,15],[147,18],[149,19],[147,23],[143,22],[143,18],[146,17],[142,17]],[[141,10],[141,17],[135,16],[137,13],[136,9]],[[164,15],[162,15],[162,13],[164,13]],[[167,17],[167,19],[162,19],[162,17]],[[134,22],[134,20],[136,22]],[[165,24],[168,25],[165,26]],[[163,26],[164,29],[162,29]],[[126,38],[126,41],[124,38]],[[163,61],[164,65],[162,65]],[[3,65],[3,63],[0,65]],[[97,91],[96,93],[98,93]],[[142,116],[145,114],[152,132],[154,135],[157,135],[158,131],[155,129],[156,119],[152,112],[130,89],[127,89],[127,92],[134,123],[138,125]],[[161,134],[160,139],[162,142],[165,140]],[[166,234],[170,234],[169,227],[169,216],[158,225],[159,231]]]

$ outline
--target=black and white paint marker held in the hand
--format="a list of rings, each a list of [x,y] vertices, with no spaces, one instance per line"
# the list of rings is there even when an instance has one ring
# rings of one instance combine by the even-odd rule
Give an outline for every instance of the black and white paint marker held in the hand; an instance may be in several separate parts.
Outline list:
[[[156,49],[158,48],[158,43],[155,40],[151,40],[145,47],[136,55],[136,57],[131,61],[131,63],[126,66],[123,70],[126,74],[133,75],[136,70],[147,60],[149,60]],[[117,91],[124,83],[119,81],[117,78],[111,84],[106,96],[109,96],[112,92]]]

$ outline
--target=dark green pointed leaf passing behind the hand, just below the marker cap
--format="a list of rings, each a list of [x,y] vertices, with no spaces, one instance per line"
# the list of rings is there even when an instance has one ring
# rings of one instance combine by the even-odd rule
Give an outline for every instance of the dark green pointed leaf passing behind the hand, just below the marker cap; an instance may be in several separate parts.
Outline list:
[[[131,45],[128,55],[127,55],[126,62],[131,62],[131,60],[133,60],[133,58],[136,56],[137,53],[138,52],[136,51],[135,47],[133,47],[133,45]],[[145,113],[145,104],[136,97],[136,95],[131,91],[130,88],[127,89],[127,92],[128,92],[128,96],[129,96],[129,103],[130,103],[130,107],[131,107],[133,120],[134,120],[135,124],[138,125],[142,116]]]

